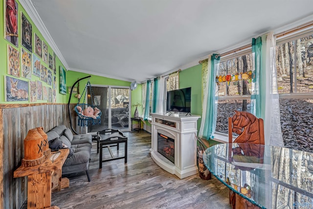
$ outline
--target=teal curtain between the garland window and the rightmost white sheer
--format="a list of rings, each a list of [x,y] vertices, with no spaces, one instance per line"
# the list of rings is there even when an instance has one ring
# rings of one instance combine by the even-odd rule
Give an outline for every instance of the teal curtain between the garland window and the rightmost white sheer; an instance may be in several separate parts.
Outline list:
[[[262,84],[266,84],[265,77],[262,76],[262,38],[252,39],[252,54],[254,56],[254,70],[252,79],[252,92],[251,92],[251,103],[250,112],[256,117],[262,117],[261,107],[265,105],[265,101],[261,96]],[[263,81],[262,81],[263,80]],[[265,92],[263,92],[264,94]],[[264,103],[264,104],[263,104]]]

